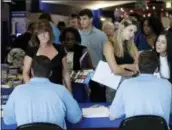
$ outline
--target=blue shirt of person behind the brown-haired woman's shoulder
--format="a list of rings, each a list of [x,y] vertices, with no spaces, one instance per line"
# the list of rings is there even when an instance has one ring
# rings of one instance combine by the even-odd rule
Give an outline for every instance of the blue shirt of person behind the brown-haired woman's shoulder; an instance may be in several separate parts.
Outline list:
[[[53,43],[60,44],[60,40],[59,40],[60,39],[60,30],[56,27],[55,24],[50,23],[50,25],[51,25],[53,35],[54,35]]]

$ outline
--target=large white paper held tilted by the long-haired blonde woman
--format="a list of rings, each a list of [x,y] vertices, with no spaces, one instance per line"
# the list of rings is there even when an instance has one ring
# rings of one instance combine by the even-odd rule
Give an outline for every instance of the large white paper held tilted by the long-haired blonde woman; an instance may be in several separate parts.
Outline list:
[[[119,86],[121,78],[122,76],[112,73],[108,63],[100,61],[92,80],[116,90]]]

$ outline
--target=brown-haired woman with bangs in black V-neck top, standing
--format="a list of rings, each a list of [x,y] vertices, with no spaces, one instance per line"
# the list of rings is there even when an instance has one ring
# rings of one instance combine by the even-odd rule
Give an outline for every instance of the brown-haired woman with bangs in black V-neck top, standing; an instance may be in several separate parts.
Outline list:
[[[30,80],[33,58],[43,55],[48,57],[52,63],[50,81],[56,84],[63,84],[64,81],[68,90],[72,91],[65,49],[62,45],[53,43],[53,40],[53,31],[49,21],[39,20],[34,26],[32,38],[24,58],[24,81],[28,82]]]

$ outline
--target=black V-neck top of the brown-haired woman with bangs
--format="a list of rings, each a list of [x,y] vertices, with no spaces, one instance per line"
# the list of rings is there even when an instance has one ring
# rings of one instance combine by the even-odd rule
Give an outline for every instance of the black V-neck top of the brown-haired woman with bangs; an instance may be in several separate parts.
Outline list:
[[[52,74],[50,76],[50,81],[56,84],[62,84],[62,59],[66,56],[65,49],[60,44],[53,44],[53,46],[58,51],[58,54],[51,60],[53,65]],[[26,55],[33,58],[36,56],[38,51],[38,47],[30,47],[28,46]]]

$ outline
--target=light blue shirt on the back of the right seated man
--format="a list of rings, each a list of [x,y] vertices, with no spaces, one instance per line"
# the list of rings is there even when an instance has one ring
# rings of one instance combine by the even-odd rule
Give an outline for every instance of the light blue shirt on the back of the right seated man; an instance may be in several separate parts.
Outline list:
[[[111,106],[114,109],[116,107],[117,110],[111,109],[111,111],[114,117],[122,115],[126,117],[158,115],[165,118],[168,123],[171,87],[167,80],[158,79],[148,74],[142,74],[136,78],[125,80],[117,91],[118,94]],[[122,105],[119,105],[120,101]]]

